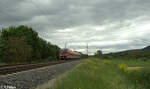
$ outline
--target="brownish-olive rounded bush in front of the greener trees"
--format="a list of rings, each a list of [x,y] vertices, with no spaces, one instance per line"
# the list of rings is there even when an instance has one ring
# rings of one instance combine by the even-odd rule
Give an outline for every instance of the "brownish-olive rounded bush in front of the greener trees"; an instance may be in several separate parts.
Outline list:
[[[23,37],[11,37],[6,42],[4,50],[4,62],[27,63],[32,59],[32,48],[25,42]]]

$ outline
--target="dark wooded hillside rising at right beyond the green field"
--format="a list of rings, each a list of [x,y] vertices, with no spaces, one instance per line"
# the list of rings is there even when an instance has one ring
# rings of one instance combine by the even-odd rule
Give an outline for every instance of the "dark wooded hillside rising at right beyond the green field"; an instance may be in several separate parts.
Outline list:
[[[146,47],[139,50],[129,50],[117,53],[103,54],[101,56],[105,59],[122,59],[122,60],[149,60],[150,59],[150,49]]]

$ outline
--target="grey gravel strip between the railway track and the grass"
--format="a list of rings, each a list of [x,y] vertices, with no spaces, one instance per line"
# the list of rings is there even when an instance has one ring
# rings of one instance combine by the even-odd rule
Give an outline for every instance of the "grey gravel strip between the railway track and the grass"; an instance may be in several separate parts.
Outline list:
[[[0,89],[34,89],[56,75],[62,74],[79,64],[82,60],[52,65],[30,71],[0,76]]]

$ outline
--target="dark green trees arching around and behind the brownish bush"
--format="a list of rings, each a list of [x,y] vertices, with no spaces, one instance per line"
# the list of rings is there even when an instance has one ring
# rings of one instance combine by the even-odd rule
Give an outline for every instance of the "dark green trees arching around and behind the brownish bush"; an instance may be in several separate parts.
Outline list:
[[[38,36],[38,33],[32,28],[27,26],[18,26],[18,27],[9,27],[3,28],[0,32],[0,59],[5,60],[4,58],[4,48],[11,38],[23,38],[24,43],[31,47],[33,53],[31,54],[32,61],[45,61],[49,59],[55,59],[59,51],[57,45],[53,45],[50,42],[45,41],[44,39]],[[20,41],[19,41],[20,42]],[[7,49],[9,51],[9,49]]]

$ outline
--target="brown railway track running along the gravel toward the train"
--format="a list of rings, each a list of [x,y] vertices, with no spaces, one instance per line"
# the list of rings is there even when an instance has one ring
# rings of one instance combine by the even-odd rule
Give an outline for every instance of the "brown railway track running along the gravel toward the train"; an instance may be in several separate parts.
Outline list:
[[[12,73],[17,73],[25,70],[36,69],[45,66],[51,66],[56,64],[62,64],[66,62],[72,62],[75,60],[69,61],[55,61],[55,62],[47,62],[47,63],[34,63],[34,64],[17,64],[17,65],[4,65],[0,66],[0,75],[7,75]]]

